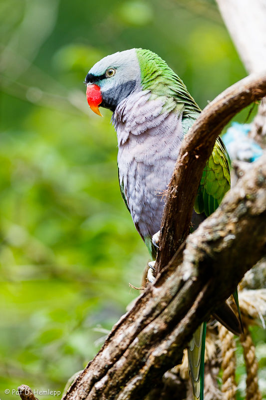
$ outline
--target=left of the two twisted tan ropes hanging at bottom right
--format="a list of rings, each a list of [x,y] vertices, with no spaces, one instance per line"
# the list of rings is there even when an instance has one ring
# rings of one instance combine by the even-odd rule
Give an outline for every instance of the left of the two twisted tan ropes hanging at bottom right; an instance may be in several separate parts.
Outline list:
[[[219,339],[221,340],[221,356],[223,369],[223,400],[236,399],[236,342],[234,334],[219,323]]]

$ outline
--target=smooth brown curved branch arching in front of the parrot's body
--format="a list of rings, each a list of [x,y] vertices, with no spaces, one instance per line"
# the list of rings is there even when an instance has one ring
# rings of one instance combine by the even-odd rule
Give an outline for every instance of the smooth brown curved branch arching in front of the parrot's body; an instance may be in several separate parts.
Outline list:
[[[207,105],[186,134],[167,192],[157,272],[168,264],[189,234],[198,186],[218,135],[233,116],[265,95],[266,72],[247,76]]]

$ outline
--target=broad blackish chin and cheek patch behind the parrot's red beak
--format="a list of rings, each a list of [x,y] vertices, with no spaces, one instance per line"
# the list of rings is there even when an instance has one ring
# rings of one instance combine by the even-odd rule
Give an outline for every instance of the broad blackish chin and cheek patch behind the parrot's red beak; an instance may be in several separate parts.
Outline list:
[[[129,80],[128,82],[120,83],[117,86],[103,91],[102,103],[100,105],[114,111],[117,105],[134,90],[135,86],[136,80]]]

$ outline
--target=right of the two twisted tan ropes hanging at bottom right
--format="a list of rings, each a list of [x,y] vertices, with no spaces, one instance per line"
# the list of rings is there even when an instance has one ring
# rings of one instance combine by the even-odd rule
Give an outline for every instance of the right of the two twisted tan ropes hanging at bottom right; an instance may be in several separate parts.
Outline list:
[[[258,384],[258,360],[255,355],[255,345],[253,343],[248,324],[244,324],[244,333],[240,336],[243,347],[244,359],[247,370],[246,379],[246,400],[261,400],[262,394]]]

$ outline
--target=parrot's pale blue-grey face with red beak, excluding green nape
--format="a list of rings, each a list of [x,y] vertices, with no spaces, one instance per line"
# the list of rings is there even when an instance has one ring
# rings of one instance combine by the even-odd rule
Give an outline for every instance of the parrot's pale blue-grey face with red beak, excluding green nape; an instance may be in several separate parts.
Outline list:
[[[140,88],[140,75],[135,48],[102,58],[89,70],[84,82],[92,111],[98,115],[99,107],[114,111],[125,97]]]

